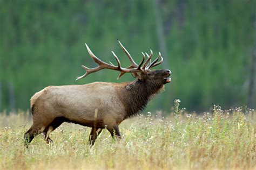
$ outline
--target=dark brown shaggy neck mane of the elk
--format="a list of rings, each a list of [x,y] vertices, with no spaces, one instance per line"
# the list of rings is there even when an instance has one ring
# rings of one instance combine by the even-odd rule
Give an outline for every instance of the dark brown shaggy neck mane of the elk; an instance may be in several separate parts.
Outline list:
[[[125,119],[142,111],[153,95],[163,89],[164,84],[157,81],[135,80],[123,89],[121,100],[125,106]]]

